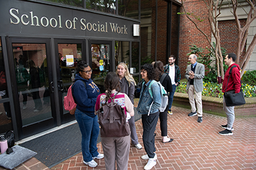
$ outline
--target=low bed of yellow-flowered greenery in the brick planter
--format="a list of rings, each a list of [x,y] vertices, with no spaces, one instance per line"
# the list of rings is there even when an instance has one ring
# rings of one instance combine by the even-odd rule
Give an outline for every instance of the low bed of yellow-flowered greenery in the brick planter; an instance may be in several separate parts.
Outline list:
[[[177,87],[176,92],[187,93],[186,92],[186,82],[180,83]],[[244,92],[244,97],[256,97],[256,86],[248,85],[242,83],[242,89]],[[218,97],[223,98],[222,84],[204,82],[204,89],[202,91],[202,96]]]

